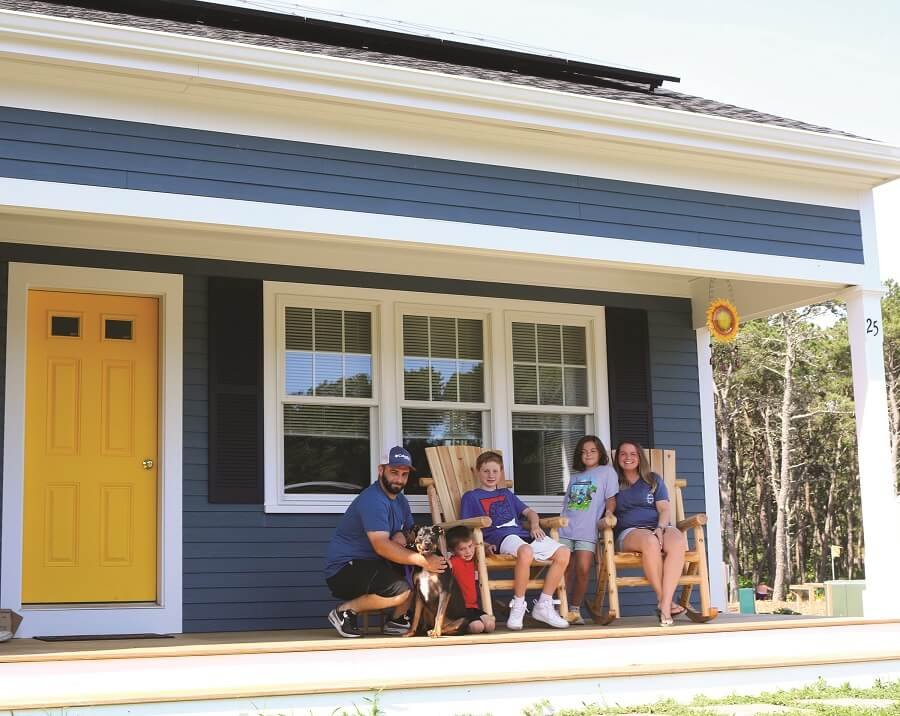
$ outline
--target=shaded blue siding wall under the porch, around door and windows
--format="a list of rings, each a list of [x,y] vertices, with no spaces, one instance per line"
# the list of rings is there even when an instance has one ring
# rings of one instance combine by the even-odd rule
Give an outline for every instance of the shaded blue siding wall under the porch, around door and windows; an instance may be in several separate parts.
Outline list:
[[[643,308],[650,329],[655,446],[677,450],[679,473],[688,480],[686,507],[689,512],[703,511],[696,344],[687,300],[416,277],[398,283],[394,276],[353,271],[23,245],[0,245],[0,260],[184,274],[185,631],[322,627],[323,615],[334,603],[321,569],[339,515],[266,514],[261,505],[210,504],[207,499],[208,275],[393,289],[403,285],[417,291]],[[5,266],[0,294],[3,324]],[[5,345],[4,340],[0,351],[4,358]],[[653,602],[648,590],[623,592],[625,614],[647,613]]]

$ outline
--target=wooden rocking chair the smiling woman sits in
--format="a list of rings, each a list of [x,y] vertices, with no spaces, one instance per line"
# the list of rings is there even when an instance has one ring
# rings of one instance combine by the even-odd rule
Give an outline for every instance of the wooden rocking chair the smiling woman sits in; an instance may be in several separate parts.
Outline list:
[[[662,476],[666,488],[669,491],[671,504],[670,515],[673,526],[681,532],[692,531],[694,546],[689,548],[684,555],[684,574],[678,580],[681,586],[680,604],[685,608],[688,617],[699,623],[715,619],[719,611],[710,606],[709,572],[706,565],[706,538],[703,534],[703,526],[706,524],[705,514],[696,514],[685,518],[684,501],[681,489],[687,485],[687,481],[675,477],[675,451],[674,450],[647,450],[650,460],[650,469]],[[612,458],[611,458],[612,459]],[[639,552],[616,552],[613,539],[613,527],[616,525],[615,517],[607,517],[600,520],[600,539],[597,540],[597,596],[589,609],[598,624],[609,624],[621,615],[619,610],[619,587],[643,587],[649,586],[649,582],[643,573],[640,576],[619,576],[619,569],[641,569],[641,555]],[[691,592],[694,587],[700,589],[700,611],[691,607]],[[603,602],[606,594],[609,594],[609,608],[603,612]]]

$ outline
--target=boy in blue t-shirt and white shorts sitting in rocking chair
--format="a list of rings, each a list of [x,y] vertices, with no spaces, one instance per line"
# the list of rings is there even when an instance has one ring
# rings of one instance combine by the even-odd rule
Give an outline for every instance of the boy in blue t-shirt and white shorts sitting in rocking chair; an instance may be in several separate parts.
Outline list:
[[[462,496],[460,516],[491,518],[491,526],[484,529],[484,540],[489,548],[499,554],[509,554],[516,558],[513,572],[513,600],[510,603],[507,629],[521,629],[525,617],[525,587],[531,573],[533,559],[551,562],[544,578],[544,588],[531,613],[537,621],[557,629],[565,629],[569,622],[563,619],[553,606],[553,592],[569,564],[569,550],[559,542],[550,539],[541,529],[538,513],[505,487],[499,487],[503,480],[503,458],[499,453],[481,453],[475,461],[480,488],[469,490]],[[525,519],[528,529],[519,524]]]

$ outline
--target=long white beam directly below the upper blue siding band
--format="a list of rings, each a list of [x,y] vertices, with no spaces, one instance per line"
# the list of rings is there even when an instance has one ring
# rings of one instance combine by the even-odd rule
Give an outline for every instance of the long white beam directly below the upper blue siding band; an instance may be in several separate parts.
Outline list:
[[[610,268],[687,276],[846,287],[865,267],[649,241],[537,231],[461,221],[219,199],[214,197],[0,178],[0,213],[75,213],[131,221],[171,221],[281,234],[341,237],[385,247],[430,246],[507,256],[586,260]]]

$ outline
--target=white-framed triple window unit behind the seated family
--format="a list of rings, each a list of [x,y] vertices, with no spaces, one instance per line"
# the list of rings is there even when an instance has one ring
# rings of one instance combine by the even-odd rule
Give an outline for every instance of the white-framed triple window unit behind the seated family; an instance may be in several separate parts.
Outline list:
[[[558,508],[572,450],[608,438],[598,306],[269,282],[264,293],[266,510],[342,512],[392,445],[502,451],[506,476]]]

